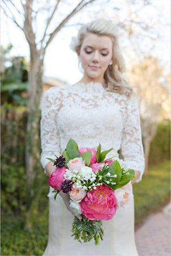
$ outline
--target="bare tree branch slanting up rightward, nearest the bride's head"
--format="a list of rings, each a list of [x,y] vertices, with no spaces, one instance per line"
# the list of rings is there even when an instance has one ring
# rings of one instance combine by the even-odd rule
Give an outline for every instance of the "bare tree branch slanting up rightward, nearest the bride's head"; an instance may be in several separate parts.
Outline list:
[[[50,42],[52,41],[52,39],[55,37],[55,35],[58,33],[58,31],[60,29],[62,29],[62,27],[67,23],[67,21],[74,16],[76,13],[78,13],[80,10],[83,9],[84,6],[88,5],[89,3],[92,3],[96,0],[90,0],[87,3],[84,3],[82,5],[82,3],[84,2],[84,0],[82,0],[76,7],[74,10],[71,11],[70,14],[68,14],[68,16],[66,18],[63,19],[63,21],[59,24],[58,27],[56,27],[56,29],[50,34],[50,38],[48,39],[48,41],[46,42],[46,46],[44,46],[44,50],[46,49],[46,47],[50,44]]]

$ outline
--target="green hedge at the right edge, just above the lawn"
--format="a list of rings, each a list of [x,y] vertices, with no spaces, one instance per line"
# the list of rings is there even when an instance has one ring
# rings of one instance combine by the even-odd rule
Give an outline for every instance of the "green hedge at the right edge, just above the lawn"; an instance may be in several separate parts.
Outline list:
[[[158,123],[156,137],[150,146],[149,165],[170,159],[170,122]]]

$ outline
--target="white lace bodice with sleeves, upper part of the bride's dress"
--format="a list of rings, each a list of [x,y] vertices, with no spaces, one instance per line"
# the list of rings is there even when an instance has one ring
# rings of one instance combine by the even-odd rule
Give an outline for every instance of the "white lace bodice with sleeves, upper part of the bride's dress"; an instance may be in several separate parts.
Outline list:
[[[113,148],[107,156],[119,158],[131,169],[144,171],[139,107],[135,94],[111,93],[101,83],[51,87],[42,101],[41,163],[54,158],[72,138],[79,147]],[[140,177],[141,179],[141,177]],[[140,180],[139,179],[139,180]]]

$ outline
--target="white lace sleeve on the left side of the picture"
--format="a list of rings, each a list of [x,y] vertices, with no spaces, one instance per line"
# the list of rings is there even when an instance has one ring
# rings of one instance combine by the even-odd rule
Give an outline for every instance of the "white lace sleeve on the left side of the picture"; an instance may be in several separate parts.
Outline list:
[[[59,107],[60,98],[55,97],[54,88],[52,87],[44,93],[42,100],[42,116],[40,121],[42,153],[40,162],[44,169],[47,163],[50,162],[46,159],[47,157],[54,159],[54,154],[60,155],[59,131],[56,124]]]

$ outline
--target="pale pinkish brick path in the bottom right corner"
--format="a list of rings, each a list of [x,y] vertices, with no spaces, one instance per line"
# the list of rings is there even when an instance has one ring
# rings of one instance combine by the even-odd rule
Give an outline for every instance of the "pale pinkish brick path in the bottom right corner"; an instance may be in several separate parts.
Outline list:
[[[139,256],[165,256],[170,251],[170,204],[160,212],[150,215],[136,230],[135,238]]]

